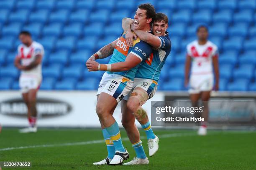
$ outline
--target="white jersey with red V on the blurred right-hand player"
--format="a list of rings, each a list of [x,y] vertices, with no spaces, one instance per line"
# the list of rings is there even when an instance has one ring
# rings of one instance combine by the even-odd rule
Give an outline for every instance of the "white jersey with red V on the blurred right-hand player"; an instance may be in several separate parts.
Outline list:
[[[212,57],[218,57],[218,47],[210,41],[199,45],[198,41],[192,41],[187,45],[187,55],[192,59],[191,74],[213,74]]]

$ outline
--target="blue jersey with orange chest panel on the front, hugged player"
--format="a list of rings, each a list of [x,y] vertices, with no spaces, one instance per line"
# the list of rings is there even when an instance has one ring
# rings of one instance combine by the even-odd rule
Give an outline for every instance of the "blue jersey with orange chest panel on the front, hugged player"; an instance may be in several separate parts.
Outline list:
[[[108,62],[108,64],[113,64],[116,62],[124,62],[125,58],[129,53],[136,55],[141,59],[141,61],[143,61],[147,59],[152,53],[152,47],[148,45],[148,43],[140,39],[133,40],[133,47],[128,47],[125,40],[125,33],[123,33],[123,35],[118,38],[113,55],[110,58],[110,61]],[[127,77],[128,79],[133,80],[138,70],[138,67],[139,67],[139,64],[127,71],[107,72],[107,73],[122,75],[123,77]]]

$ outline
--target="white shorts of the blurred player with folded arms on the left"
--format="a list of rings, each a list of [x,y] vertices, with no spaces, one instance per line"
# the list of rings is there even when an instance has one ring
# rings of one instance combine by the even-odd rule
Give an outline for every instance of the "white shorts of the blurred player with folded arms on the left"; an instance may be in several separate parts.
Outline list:
[[[19,79],[20,91],[27,93],[31,89],[39,89],[41,81],[41,76],[21,74]]]

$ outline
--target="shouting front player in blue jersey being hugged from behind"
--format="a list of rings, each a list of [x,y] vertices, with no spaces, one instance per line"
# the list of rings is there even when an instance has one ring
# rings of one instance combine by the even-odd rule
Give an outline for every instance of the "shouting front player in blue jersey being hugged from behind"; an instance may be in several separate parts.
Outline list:
[[[138,24],[135,25],[136,29],[150,31],[155,14],[154,6],[150,4],[139,5],[136,11],[138,18]],[[112,53],[113,55],[107,65],[94,61],[98,58],[108,57]],[[127,150],[123,147],[118,123],[113,117],[113,112],[118,102],[132,90],[138,65],[147,59],[151,53],[151,46],[140,39],[133,40],[133,47],[128,47],[124,33],[117,40],[102,47],[87,61],[86,65],[89,71],[107,71],[100,81],[96,112],[108,148],[108,158],[94,163],[94,165],[117,165],[129,158]],[[143,150],[142,145],[138,148]]]

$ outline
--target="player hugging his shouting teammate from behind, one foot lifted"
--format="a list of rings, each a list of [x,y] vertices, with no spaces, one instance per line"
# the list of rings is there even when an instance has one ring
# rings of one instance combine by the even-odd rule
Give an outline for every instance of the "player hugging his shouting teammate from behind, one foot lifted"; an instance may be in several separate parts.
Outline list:
[[[136,26],[138,23],[140,23],[138,16],[139,15],[136,14],[134,20],[130,18],[123,19],[123,28],[126,32],[125,36],[127,44],[129,47],[132,47],[134,41],[133,38],[138,36],[138,38],[144,40],[154,47],[154,50],[151,56],[145,62],[142,62],[138,68],[134,78],[133,91],[129,94],[130,97],[125,96],[121,102],[122,124],[131,143],[133,144],[133,148],[136,151],[136,157],[124,165],[142,165],[149,163],[142,147],[138,128],[135,125],[135,117],[141,123],[142,128],[146,132],[148,138],[149,155],[154,155],[158,150],[159,139],[156,137],[156,135],[154,135],[148,120],[148,116],[141,108],[141,105],[143,105],[148,98],[153,97],[155,94],[161,68],[163,67],[166,57],[169,55],[171,50],[171,42],[168,32],[166,32],[168,27],[167,16],[162,13],[156,14],[152,26],[154,35],[150,32],[136,29]],[[136,35],[131,33],[131,24],[132,31]],[[97,69],[97,62],[94,61],[94,64],[96,65],[94,66],[93,70],[99,70]],[[103,164],[103,162],[101,161],[99,163]]]

